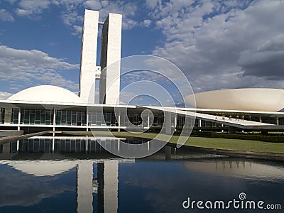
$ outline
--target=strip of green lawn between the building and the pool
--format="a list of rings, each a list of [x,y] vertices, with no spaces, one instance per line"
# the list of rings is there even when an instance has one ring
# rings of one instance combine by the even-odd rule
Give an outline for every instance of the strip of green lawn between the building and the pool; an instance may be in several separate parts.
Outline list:
[[[83,132],[72,132],[72,134],[78,134]],[[84,132],[86,133],[86,132]],[[155,138],[155,133],[128,133],[128,132],[111,132],[114,136],[138,136],[141,138]],[[89,132],[92,135],[91,132]],[[102,133],[104,134],[104,133]],[[177,143],[179,136],[173,136],[170,139],[171,143]],[[202,137],[190,137],[188,138],[185,146],[195,146],[201,148],[219,148],[224,150],[234,151],[254,151],[254,152],[271,152],[271,153],[284,153],[284,143],[269,143],[262,141],[249,141],[239,139],[227,139],[227,138],[202,138]]]

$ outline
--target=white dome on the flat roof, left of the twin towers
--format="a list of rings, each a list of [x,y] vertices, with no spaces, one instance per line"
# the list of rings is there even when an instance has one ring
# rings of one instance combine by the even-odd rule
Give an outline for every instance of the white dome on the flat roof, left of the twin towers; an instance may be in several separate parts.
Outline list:
[[[73,92],[62,87],[51,85],[41,85],[24,89],[21,92],[9,97],[11,101],[25,102],[63,102],[63,103],[80,103],[82,102]]]

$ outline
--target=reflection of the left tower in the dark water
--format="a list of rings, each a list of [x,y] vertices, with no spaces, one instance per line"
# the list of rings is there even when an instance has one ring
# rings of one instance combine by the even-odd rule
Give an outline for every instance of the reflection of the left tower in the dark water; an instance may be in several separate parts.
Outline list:
[[[77,213],[93,212],[93,161],[84,160],[77,166]]]

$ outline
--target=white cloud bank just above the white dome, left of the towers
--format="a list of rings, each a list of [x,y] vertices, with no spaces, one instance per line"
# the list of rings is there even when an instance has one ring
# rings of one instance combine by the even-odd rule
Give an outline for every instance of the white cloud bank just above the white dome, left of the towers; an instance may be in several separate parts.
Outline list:
[[[76,90],[78,84],[66,80],[58,70],[77,70],[79,65],[72,65],[60,58],[52,58],[39,50],[18,50],[0,45],[0,75],[2,81],[24,84],[53,84]],[[21,88],[17,88],[21,89]]]

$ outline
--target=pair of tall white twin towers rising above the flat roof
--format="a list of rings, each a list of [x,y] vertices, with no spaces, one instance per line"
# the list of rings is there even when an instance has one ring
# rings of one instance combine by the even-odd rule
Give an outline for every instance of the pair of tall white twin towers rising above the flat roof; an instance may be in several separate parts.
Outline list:
[[[94,104],[95,82],[99,79],[99,104],[119,104],[121,24],[121,14],[109,13],[104,21],[101,66],[98,67],[96,62],[99,11],[84,11],[79,88],[79,96],[84,103]]]

